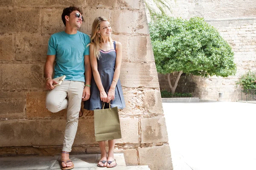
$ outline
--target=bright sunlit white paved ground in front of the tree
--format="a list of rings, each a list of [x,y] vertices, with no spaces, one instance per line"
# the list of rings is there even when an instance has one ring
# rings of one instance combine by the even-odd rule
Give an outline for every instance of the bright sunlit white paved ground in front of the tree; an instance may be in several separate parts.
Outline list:
[[[163,103],[174,170],[256,170],[256,104]]]

